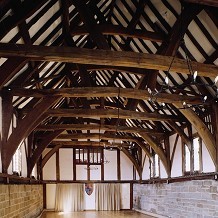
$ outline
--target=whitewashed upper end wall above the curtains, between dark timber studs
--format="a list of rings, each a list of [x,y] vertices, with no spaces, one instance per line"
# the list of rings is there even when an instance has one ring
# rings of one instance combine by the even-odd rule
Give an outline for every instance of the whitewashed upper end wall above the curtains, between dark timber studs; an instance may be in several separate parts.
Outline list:
[[[50,149],[45,149],[43,157]],[[109,163],[104,165],[104,180],[117,180],[117,151],[105,150],[105,158]],[[133,164],[120,152],[121,180],[133,179]],[[73,149],[59,149],[60,160],[60,180],[73,180]],[[101,166],[96,165],[96,170],[90,171],[90,180],[101,180]],[[87,170],[85,165],[76,166],[76,179],[87,180]],[[44,180],[56,180],[56,154],[45,164],[43,168]]]

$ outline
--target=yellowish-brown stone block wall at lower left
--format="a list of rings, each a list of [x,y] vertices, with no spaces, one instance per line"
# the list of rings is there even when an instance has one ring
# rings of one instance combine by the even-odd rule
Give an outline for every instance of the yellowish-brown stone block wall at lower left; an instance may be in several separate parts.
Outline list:
[[[1,218],[35,218],[42,210],[42,185],[0,185]]]

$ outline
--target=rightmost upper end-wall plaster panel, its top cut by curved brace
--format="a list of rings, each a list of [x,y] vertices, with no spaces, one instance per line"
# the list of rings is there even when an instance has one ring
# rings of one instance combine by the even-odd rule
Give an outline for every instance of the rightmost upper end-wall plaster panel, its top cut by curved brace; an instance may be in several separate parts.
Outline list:
[[[120,170],[121,170],[121,180],[132,180],[133,179],[133,164],[129,158],[120,152]],[[114,168],[116,165],[114,164]]]

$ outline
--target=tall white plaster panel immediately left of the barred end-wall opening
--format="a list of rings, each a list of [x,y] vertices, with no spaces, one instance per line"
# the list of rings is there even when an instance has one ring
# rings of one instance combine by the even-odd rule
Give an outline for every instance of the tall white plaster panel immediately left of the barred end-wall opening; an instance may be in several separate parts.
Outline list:
[[[60,180],[73,180],[73,149],[59,149]]]

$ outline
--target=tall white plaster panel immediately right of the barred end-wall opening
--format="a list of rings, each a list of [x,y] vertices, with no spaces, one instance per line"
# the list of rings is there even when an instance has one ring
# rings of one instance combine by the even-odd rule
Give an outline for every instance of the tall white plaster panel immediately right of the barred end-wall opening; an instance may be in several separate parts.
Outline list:
[[[104,165],[104,179],[117,179],[117,151],[104,150],[106,160],[110,161]]]

